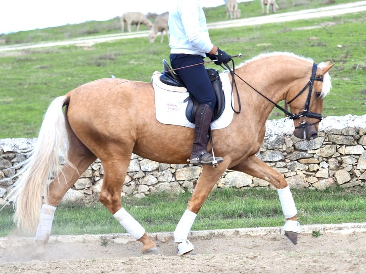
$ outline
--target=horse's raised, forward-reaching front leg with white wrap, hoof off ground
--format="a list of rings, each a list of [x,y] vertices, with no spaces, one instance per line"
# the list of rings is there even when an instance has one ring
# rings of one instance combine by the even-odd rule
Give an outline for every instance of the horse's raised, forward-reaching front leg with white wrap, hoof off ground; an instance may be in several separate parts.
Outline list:
[[[285,225],[283,227],[285,236],[287,236],[293,244],[297,244],[300,224],[296,218],[297,210],[294,198],[292,197],[290,187],[283,176],[255,155],[246,158],[240,164],[230,169],[242,171],[251,176],[266,180],[276,187],[282,211],[285,216]]]

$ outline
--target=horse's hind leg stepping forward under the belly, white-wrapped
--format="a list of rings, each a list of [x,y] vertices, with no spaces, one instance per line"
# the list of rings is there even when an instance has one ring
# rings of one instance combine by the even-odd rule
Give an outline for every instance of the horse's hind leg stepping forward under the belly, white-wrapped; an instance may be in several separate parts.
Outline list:
[[[130,164],[131,153],[110,155],[111,160],[102,160],[104,177],[99,200],[132,237],[143,243],[142,253],[157,254],[156,245],[147,236],[145,229],[122,207],[121,192]]]

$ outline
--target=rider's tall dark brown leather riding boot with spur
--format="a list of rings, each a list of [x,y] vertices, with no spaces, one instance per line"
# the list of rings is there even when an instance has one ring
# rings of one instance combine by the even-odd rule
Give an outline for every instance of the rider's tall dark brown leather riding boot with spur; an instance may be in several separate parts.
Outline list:
[[[190,159],[191,164],[213,164],[213,156],[207,152],[208,131],[212,116],[213,112],[208,104],[199,105],[195,116],[195,134]],[[224,161],[221,157],[215,157],[215,160],[217,164]]]

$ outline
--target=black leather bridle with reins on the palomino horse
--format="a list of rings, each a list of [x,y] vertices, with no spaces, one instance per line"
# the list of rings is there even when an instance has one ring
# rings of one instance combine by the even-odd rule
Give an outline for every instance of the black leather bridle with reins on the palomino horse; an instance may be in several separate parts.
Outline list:
[[[307,82],[307,84],[305,85],[305,87],[303,87],[302,90],[300,90],[299,93],[294,98],[292,98],[290,101],[288,101],[288,104],[290,104],[296,98],[298,98],[307,89],[307,87],[309,87],[309,93],[307,94],[307,99],[306,99],[306,102],[305,102],[305,106],[304,106],[303,111],[300,112],[299,114],[295,114],[295,113],[291,113],[290,111],[284,109],[283,107],[281,107],[278,104],[276,104],[275,102],[273,102],[271,99],[269,99],[264,94],[262,94],[261,92],[259,92],[258,90],[256,90],[249,83],[247,83],[244,79],[242,79],[239,75],[237,75],[235,73],[234,61],[233,60],[231,60],[231,61],[232,61],[232,66],[233,66],[232,69],[230,68],[230,66],[228,64],[225,64],[225,66],[229,70],[229,72],[230,72],[230,74],[232,76],[232,84],[231,84],[232,90],[234,88],[234,85],[236,87],[236,83],[235,83],[235,80],[234,80],[234,76],[236,75],[240,80],[242,80],[244,83],[246,83],[247,85],[249,85],[249,87],[253,88],[254,91],[256,91],[258,94],[260,94],[261,96],[263,96],[269,102],[271,102],[272,104],[274,104],[275,107],[277,107],[277,109],[280,109],[281,111],[283,111],[288,116],[288,118],[290,118],[292,120],[297,119],[298,122],[300,123],[300,125],[299,126],[296,126],[295,129],[307,128],[308,126],[312,126],[312,125],[315,125],[315,124],[319,123],[323,119],[323,117],[322,117],[321,114],[314,113],[314,112],[309,111],[311,94],[313,92],[313,82],[314,81],[323,81],[323,78],[322,77],[315,77],[315,73],[316,73],[317,67],[318,67],[317,64],[313,63],[313,70],[311,72],[311,77],[310,77],[309,82]],[[238,92],[238,89],[237,88],[236,88],[236,91]],[[239,96],[239,94],[237,94],[237,95]],[[233,110],[234,110],[234,108],[233,108]],[[239,100],[239,111],[235,111],[235,112],[236,113],[240,113],[240,111],[241,111],[241,106],[240,106],[240,100]],[[314,119],[318,119],[319,121],[314,122],[314,123],[311,123],[311,124],[306,124],[306,118],[314,118]]]

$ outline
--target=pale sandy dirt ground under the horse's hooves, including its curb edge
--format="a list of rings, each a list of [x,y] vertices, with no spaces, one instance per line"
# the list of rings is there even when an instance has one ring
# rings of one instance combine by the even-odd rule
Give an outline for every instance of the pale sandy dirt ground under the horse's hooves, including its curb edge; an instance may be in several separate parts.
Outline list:
[[[189,256],[176,255],[171,232],[150,236],[158,255],[108,234],[52,236],[42,258],[33,257],[32,239],[4,237],[0,273],[366,273],[366,223],[302,226],[296,246],[281,228],[196,231],[197,255]]]

